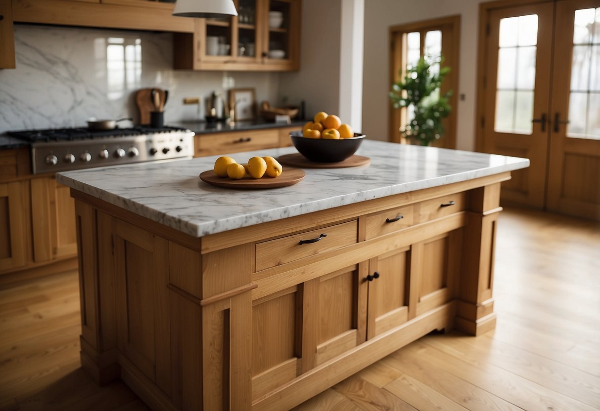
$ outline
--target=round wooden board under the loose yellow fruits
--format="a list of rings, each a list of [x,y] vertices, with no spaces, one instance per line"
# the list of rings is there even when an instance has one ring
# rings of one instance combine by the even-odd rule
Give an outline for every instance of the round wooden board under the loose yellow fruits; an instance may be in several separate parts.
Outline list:
[[[207,170],[200,173],[200,180],[217,187],[238,189],[263,189],[277,188],[294,185],[304,179],[306,173],[299,168],[286,167],[279,177],[263,176],[262,179],[244,177],[241,180],[232,180],[229,177],[217,177],[214,171]]]

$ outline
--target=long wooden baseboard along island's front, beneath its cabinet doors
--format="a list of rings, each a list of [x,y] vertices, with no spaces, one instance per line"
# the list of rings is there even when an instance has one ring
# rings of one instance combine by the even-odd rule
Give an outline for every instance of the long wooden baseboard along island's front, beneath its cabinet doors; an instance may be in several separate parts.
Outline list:
[[[445,328],[455,311],[452,301],[383,333],[257,398],[252,410],[291,409],[425,334]]]

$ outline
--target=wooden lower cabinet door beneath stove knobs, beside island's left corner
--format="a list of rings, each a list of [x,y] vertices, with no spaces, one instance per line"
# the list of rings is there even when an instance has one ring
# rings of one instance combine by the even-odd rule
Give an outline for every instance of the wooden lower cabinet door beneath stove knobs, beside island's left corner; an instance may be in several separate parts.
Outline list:
[[[75,202],[53,177],[31,180],[34,261],[77,255]]]

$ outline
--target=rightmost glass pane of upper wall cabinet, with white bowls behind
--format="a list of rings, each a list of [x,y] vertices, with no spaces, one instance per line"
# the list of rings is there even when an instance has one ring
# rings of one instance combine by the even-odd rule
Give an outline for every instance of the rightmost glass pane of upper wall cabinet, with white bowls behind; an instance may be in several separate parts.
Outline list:
[[[289,59],[290,53],[290,3],[287,1],[269,1],[269,44],[268,58],[274,60]]]

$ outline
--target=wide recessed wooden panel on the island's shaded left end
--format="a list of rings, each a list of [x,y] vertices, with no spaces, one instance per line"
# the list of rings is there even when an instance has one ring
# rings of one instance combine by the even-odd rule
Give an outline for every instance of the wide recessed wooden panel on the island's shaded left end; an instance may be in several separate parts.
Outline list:
[[[169,241],[122,220],[114,226],[118,349],[169,394]]]

